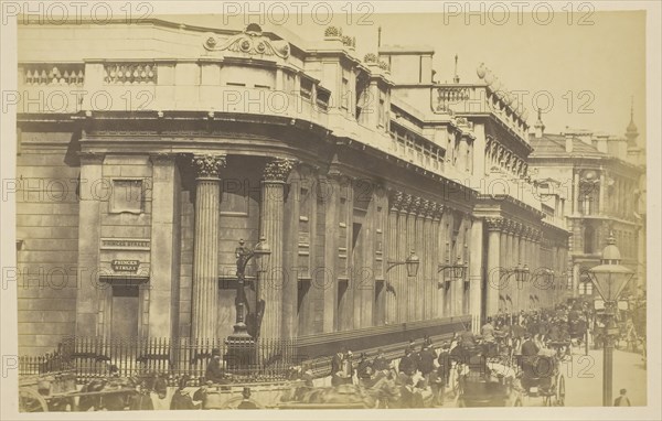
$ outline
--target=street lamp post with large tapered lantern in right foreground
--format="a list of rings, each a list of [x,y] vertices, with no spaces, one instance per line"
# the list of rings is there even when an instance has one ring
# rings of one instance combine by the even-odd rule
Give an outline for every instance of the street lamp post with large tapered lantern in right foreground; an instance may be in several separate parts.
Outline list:
[[[601,265],[588,270],[598,293],[605,300],[605,348],[602,360],[602,406],[611,407],[612,371],[613,371],[613,342],[618,328],[615,316],[617,300],[623,291],[633,271],[620,265],[620,251],[616,247],[613,235],[609,234],[607,247],[602,250]]]

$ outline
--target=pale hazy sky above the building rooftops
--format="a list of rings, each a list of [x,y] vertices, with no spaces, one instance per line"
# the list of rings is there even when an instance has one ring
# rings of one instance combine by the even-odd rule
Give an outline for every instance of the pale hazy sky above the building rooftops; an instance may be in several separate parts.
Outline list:
[[[367,3],[364,3],[367,4]],[[457,3],[459,6],[465,3]],[[535,109],[543,110],[546,132],[572,129],[622,136],[634,122],[640,141],[645,139],[645,12],[591,11],[575,9],[572,14],[549,15],[538,9],[521,14],[505,4],[508,13],[493,9],[482,18],[449,13],[369,13],[337,11],[330,22],[295,13],[282,23],[276,10],[264,15],[237,17],[178,15],[168,20],[210,28],[242,26],[246,19],[266,23],[265,29],[287,31],[306,40],[322,40],[327,25],[340,26],[343,34],[356,37],[360,57],[377,50],[377,28],[382,45],[429,45],[435,48],[436,79],[451,82],[455,55],[461,83],[478,82],[476,68],[485,65],[508,90],[524,91],[528,123],[535,122]],[[476,4],[474,4],[476,6]],[[474,9],[478,11],[479,6]],[[356,8],[357,9],[357,8]],[[374,10],[376,11],[376,10]],[[320,14],[321,15],[321,14]],[[266,18],[265,18],[266,17]],[[263,22],[258,20],[261,19]],[[226,25],[224,25],[226,23]]]

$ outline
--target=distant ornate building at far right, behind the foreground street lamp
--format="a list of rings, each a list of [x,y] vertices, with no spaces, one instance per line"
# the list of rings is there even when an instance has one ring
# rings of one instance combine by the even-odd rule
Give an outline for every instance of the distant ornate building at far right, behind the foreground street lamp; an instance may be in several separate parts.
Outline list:
[[[538,114],[531,134],[531,166],[541,191],[567,197],[563,216],[572,230],[568,298],[598,298],[588,269],[600,263],[613,233],[622,265],[636,272],[627,294],[645,291],[645,151],[631,112],[624,137],[570,130],[544,132]],[[639,291],[638,291],[639,290]],[[624,294],[624,295],[627,295]],[[624,296],[623,295],[623,296]]]

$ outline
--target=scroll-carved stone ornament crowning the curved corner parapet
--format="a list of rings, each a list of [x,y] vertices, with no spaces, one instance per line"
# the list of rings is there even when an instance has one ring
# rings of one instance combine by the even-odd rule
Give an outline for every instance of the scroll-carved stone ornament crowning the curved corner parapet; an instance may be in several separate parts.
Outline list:
[[[227,40],[221,41],[216,35],[206,35],[204,47],[210,51],[232,51],[250,55],[276,55],[287,58],[290,54],[289,43],[286,41],[273,41],[263,35],[261,28],[257,23],[250,23],[246,30]]]

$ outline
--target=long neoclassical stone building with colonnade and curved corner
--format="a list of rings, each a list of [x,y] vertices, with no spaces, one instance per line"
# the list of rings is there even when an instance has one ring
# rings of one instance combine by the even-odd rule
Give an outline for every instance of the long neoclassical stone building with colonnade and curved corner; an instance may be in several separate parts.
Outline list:
[[[337,28],[21,25],[20,352],[226,337],[238,241],[261,236],[244,311],[316,353],[564,300],[567,197],[536,192],[526,111],[484,66],[434,82],[433,54],[360,58]]]

